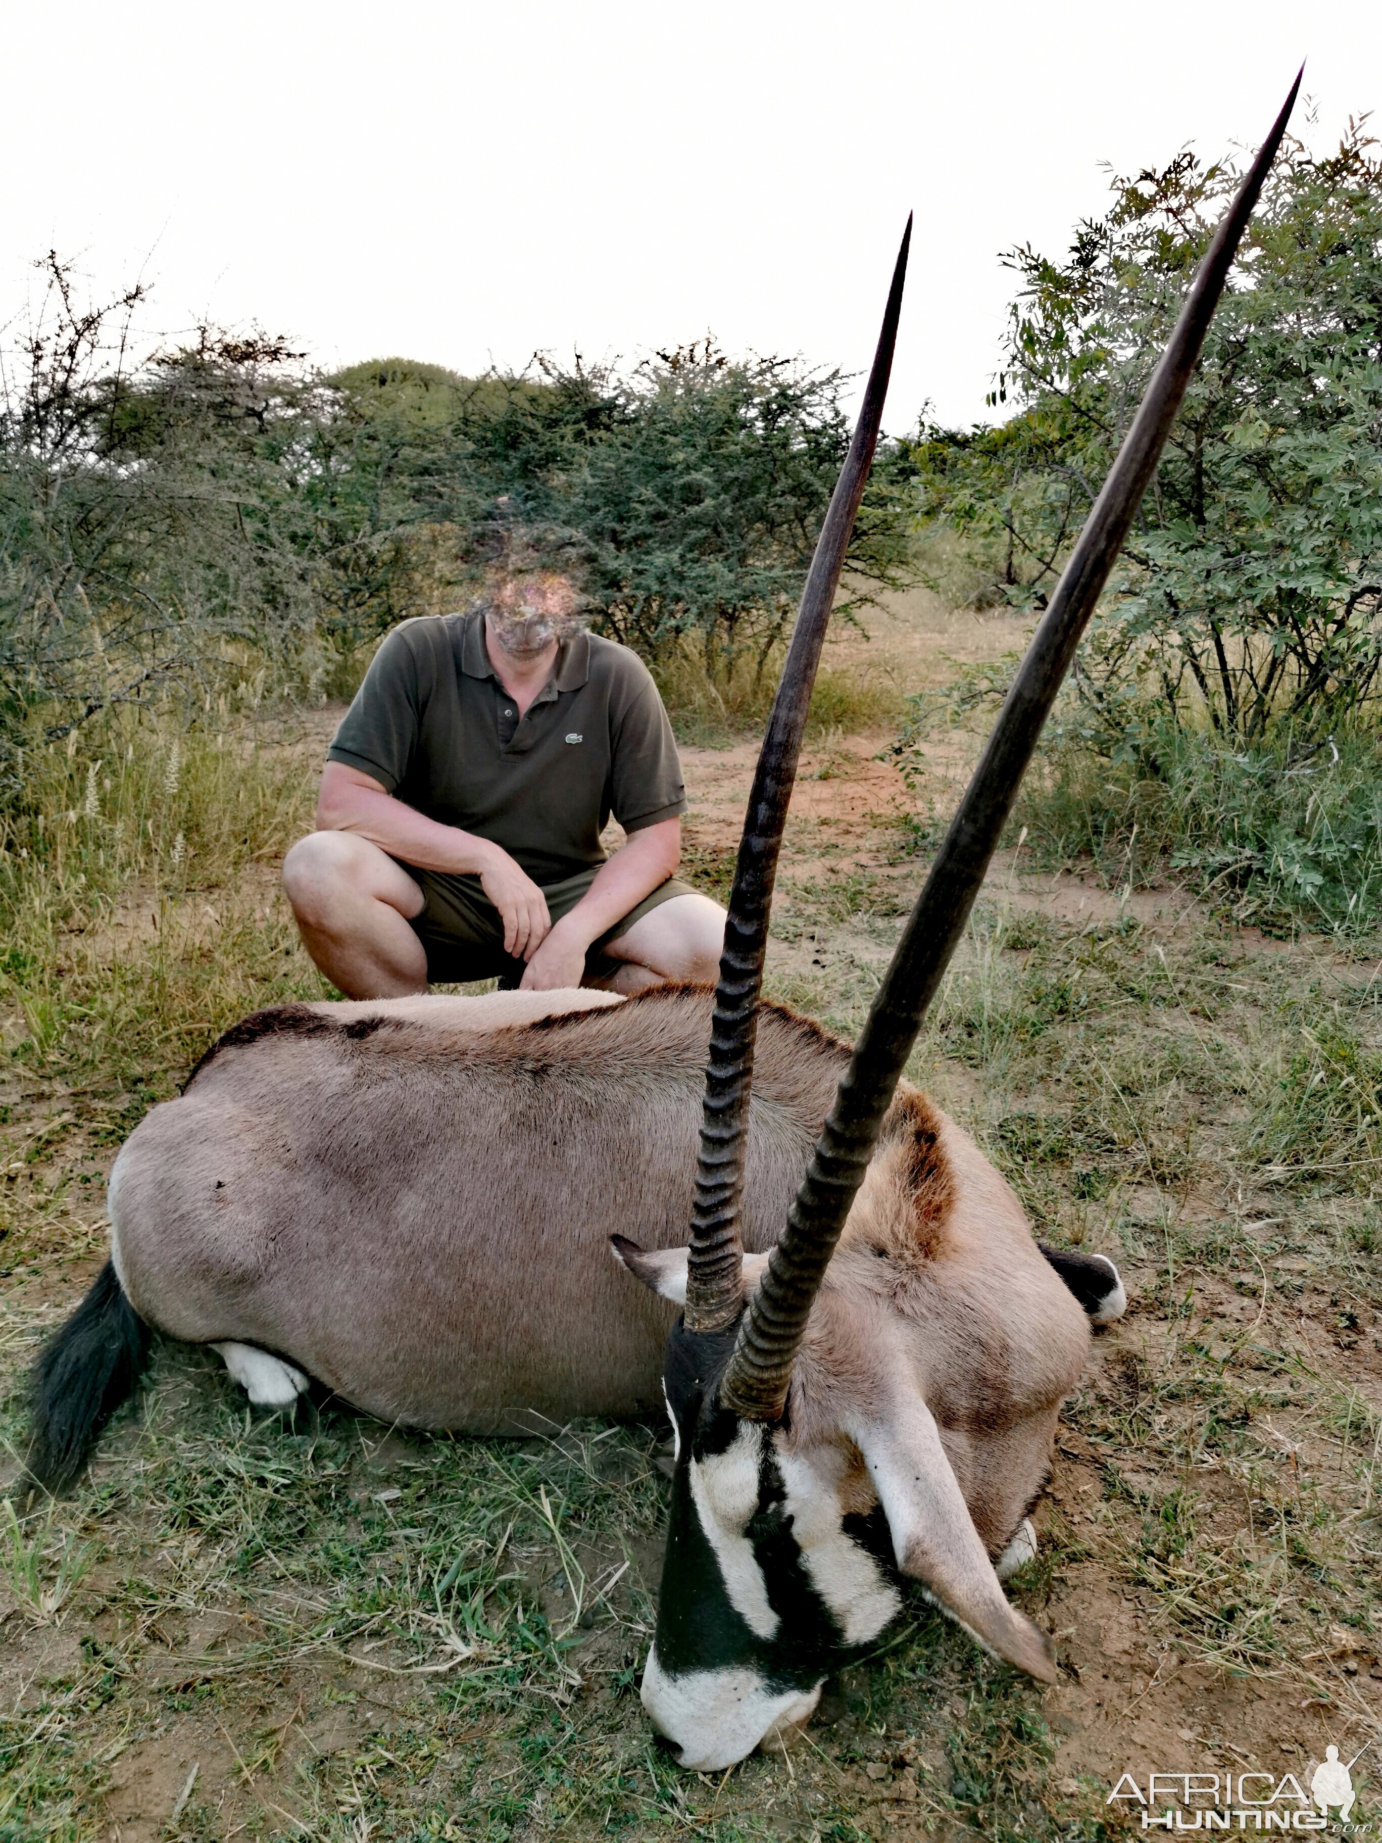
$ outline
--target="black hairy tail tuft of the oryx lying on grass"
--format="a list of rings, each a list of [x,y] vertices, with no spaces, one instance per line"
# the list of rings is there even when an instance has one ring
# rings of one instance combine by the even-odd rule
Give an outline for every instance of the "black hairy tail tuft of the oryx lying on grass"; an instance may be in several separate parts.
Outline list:
[[[105,1423],[135,1393],[147,1355],[149,1327],[107,1261],[35,1364],[31,1485],[64,1491],[74,1484]]]

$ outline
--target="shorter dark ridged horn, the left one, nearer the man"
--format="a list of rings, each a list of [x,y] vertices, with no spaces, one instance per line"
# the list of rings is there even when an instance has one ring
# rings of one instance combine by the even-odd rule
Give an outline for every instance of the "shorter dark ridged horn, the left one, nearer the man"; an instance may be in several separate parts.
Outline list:
[[[816,682],[820,649],[883,424],[883,400],[888,394],[892,350],[897,343],[897,317],[903,306],[910,241],[912,219],[908,217],[903,247],[897,251],[897,264],[892,271],[888,306],[883,313],[873,369],[868,374],[864,405],[859,411],[849,453],[835,483],[826,523],[816,540],[816,553],[811,558],[811,571],[802,590],[802,606],[796,612],[787,663],[763,735],[754,791],[748,796],[744,835],[739,840],[730,916],[724,925],[720,982],[715,988],[709,1063],[706,1065],[706,1104],[685,1277],[685,1325],[689,1331],[724,1331],[743,1307],[739,1192],[744,1178],[748,1095],[754,1084],[757,999],[763,988],[772,885],[778,875],[778,850],[787,820],[787,802],[796,780],[796,759],[802,754],[802,732],[811,704],[811,687]]]

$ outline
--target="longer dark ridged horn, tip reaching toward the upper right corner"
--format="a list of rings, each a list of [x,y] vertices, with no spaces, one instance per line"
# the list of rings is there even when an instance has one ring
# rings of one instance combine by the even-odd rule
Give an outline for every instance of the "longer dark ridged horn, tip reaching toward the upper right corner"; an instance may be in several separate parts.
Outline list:
[[[964,933],[1041,724],[1176,420],[1190,370],[1224,293],[1229,265],[1281,136],[1286,133],[1299,87],[1297,76],[1284,109],[1200,264],[1170,345],[1080,533],[1041,627],[1026,649],[982,761],[951,820],[892,966],[873,999],[802,1189],[787,1215],[787,1229],[772,1251],[720,1382],[724,1406],[748,1419],[781,1417],[811,1301],[862,1181],[883,1115],[912,1052],[927,1004]]]

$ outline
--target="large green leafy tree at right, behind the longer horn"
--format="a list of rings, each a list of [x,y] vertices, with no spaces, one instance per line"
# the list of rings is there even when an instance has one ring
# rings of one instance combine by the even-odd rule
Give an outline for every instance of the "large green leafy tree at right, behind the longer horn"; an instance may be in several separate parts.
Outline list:
[[[1017,415],[914,446],[923,509],[1043,605],[1238,184],[1181,153],[1113,182],[1065,262],[1030,247],[990,398]],[[1244,238],[1076,687],[1107,746],[1141,717],[1255,743],[1327,734],[1382,691],[1382,164],[1282,149]]]

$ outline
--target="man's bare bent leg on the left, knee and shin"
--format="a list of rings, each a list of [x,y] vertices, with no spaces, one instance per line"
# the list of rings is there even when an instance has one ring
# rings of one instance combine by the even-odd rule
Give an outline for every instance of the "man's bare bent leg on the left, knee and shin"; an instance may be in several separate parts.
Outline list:
[[[352,831],[313,831],[284,859],[284,890],[302,945],[348,999],[427,990],[427,955],[407,925],[426,898],[378,844]]]

